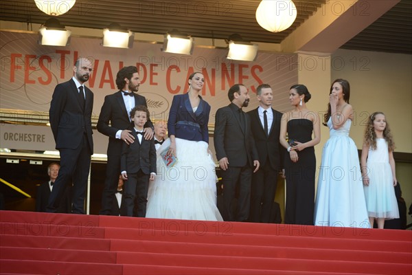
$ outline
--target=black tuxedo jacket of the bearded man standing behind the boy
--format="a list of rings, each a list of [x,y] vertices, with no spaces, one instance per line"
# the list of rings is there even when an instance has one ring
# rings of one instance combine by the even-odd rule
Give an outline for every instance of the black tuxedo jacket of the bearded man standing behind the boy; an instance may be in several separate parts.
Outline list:
[[[146,98],[135,94],[135,106],[146,104]],[[119,130],[128,129],[132,125],[129,120],[129,114],[124,104],[122,91],[117,91],[115,94],[108,95],[104,98],[102,110],[100,111],[98,120],[98,131],[103,135],[108,136],[107,155],[120,155],[122,152],[122,140],[116,139],[116,133]],[[146,122],[145,127],[153,127],[150,118]]]

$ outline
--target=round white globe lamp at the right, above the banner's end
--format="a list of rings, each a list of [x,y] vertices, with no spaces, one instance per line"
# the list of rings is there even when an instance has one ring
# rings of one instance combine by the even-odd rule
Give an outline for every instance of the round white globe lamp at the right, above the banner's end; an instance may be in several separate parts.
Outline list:
[[[296,6],[291,0],[262,0],[256,10],[256,21],[269,32],[286,30],[296,16]]]

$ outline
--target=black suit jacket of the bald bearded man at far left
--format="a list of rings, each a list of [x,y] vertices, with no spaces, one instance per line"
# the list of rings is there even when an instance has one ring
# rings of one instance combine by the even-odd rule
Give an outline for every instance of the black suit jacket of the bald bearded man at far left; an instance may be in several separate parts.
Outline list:
[[[53,131],[56,149],[76,149],[82,142],[83,133],[93,155],[93,131],[91,129],[91,112],[93,109],[93,93],[84,86],[86,102],[84,109],[80,105],[79,91],[73,79],[60,83],[54,88],[50,103],[49,122]]]

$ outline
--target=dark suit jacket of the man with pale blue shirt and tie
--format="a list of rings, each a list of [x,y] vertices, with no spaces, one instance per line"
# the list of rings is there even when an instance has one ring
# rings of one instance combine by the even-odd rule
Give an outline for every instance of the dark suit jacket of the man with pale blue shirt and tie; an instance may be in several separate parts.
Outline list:
[[[251,118],[251,128],[253,139],[255,140],[256,148],[260,159],[260,166],[266,164],[266,159],[269,159],[271,168],[280,170],[283,168],[284,147],[279,143],[280,121],[282,120],[282,113],[273,111],[273,122],[269,135],[264,133],[264,126],[260,122],[258,108],[247,112]]]

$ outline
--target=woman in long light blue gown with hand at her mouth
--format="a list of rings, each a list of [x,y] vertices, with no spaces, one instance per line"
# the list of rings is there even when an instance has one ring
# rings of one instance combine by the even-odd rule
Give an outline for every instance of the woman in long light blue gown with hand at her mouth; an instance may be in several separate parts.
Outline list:
[[[323,146],[314,225],[370,228],[358,151],[349,137],[354,115],[349,98],[347,80],[334,80],[324,115],[330,138]]]

